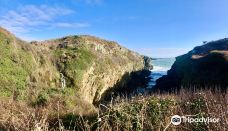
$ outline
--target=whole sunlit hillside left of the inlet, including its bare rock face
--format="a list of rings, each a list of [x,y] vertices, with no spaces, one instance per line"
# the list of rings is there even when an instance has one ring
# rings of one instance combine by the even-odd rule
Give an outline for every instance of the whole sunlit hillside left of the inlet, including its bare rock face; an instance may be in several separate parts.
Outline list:
[[[92,36],[28,43],[1,28],[0,48],[0,96],[35,105],[57,99],[71,107],[79,100],[92,104],[145,63],[143,56]]]

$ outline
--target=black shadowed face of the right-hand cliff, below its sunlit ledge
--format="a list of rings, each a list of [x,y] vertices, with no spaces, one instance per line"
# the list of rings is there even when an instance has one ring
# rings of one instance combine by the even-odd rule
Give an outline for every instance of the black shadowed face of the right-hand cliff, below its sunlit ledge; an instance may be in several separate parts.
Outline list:
[[[192,59],[183,55],[168,71],[168,75],[156,81],[155,92],[179,92],[181,88],[212,89],[225,92],[228,87],[228,61],[223,54],[210,53]]]

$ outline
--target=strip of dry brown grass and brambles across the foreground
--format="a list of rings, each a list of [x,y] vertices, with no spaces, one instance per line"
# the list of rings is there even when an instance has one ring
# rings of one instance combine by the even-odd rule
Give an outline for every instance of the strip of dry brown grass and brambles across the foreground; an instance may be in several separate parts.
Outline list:
[[[52,105],[53,106],[53,105]],[[228,130],[228,94],[210,90],[181,90],[179,94],[152,94],[99,105],[99,112],[81,116],[58,107],[29,107],[11,100],[0,101],[1,130]],[[170,124],[173,115],[219,118],[218,123]]]

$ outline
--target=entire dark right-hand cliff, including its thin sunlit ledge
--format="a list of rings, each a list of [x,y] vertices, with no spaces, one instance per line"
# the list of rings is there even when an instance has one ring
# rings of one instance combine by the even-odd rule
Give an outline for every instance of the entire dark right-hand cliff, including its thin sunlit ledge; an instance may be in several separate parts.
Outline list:
[[[208,42],[176,58],[166,76],[157,80],[156,90],[180,87],[228,87],[228,39]]]

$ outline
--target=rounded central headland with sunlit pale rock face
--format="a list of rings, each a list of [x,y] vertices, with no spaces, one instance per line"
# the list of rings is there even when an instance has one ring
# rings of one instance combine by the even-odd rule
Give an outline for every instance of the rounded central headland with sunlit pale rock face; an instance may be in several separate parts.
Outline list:
[[[49,45],[53,41],[47,41]],[[49,46],[58,70],[66,78],[66,86],[75,88],[89,103],[101,95],[125,73],[141,70],[143,57],[115,42],[91,36],[71,36],[54,40]]]

